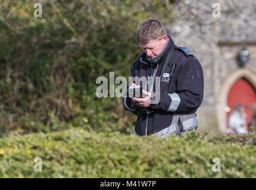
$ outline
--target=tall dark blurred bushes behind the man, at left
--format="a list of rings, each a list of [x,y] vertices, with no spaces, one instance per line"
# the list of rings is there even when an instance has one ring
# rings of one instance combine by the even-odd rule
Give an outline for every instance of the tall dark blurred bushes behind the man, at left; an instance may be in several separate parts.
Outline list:
[[[173,2],[0,1],[0,137],[84,123],[129,133],[135,117],[121,99],[96,97],[96,78],[128,78],[142,52],[136,27],[145,18],[172,23]]]

